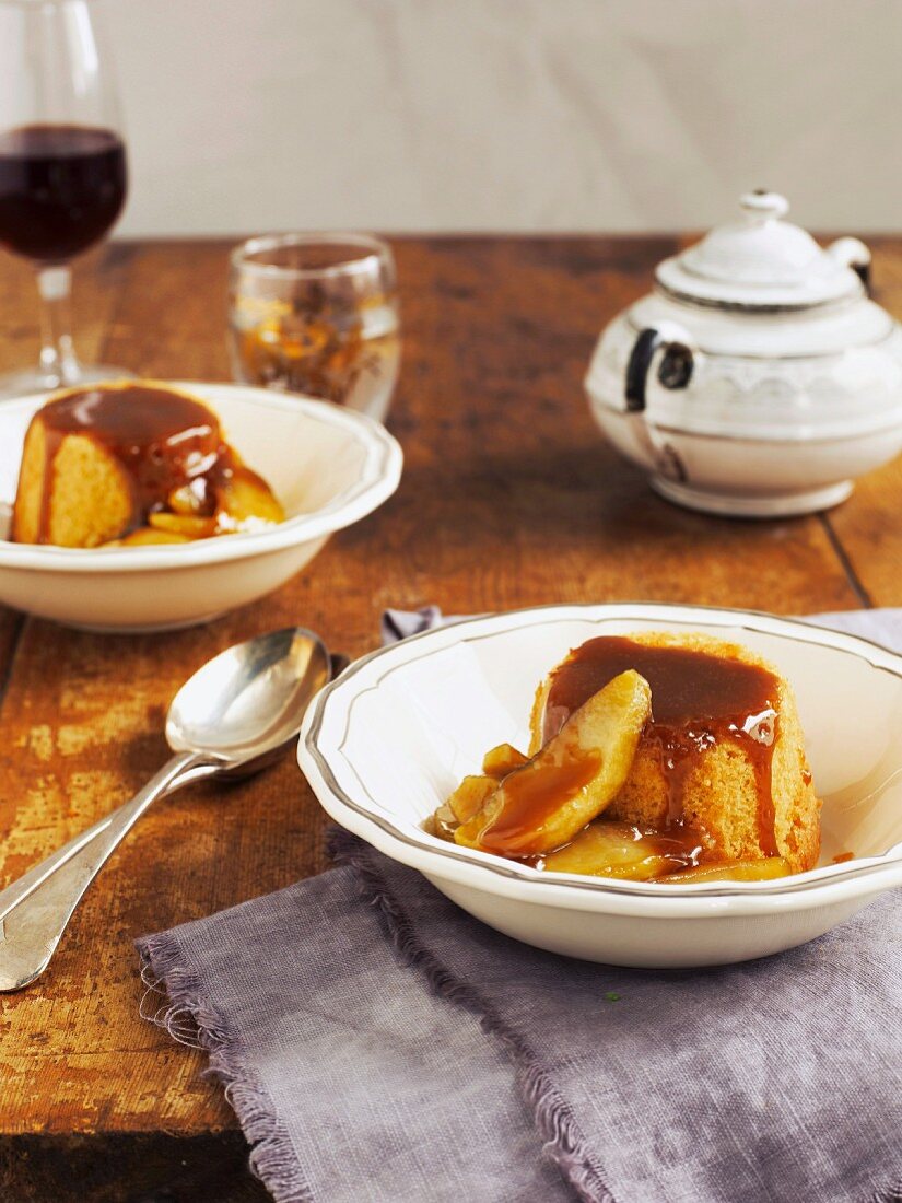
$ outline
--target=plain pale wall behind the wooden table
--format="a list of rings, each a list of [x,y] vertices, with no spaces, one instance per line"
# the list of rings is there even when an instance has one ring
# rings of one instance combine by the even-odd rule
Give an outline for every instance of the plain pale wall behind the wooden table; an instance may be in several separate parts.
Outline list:
[[[119,235],[902,226],[902,0],[111,0]]]

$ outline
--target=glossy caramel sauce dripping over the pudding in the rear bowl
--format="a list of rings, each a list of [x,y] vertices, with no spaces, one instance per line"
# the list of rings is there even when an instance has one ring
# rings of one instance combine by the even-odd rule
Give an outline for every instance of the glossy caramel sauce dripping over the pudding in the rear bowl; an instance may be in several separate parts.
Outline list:
[[[206,405],[153,385],[124,389],[79,389],[41,410],[46,470],[38,543],[48,541],[53,461],[67,434],[93,439],[125,469],[132,494],[132,521],[166,508],[168,494],[191,486],[201,515],[213,514],[215,488],[237,473],[254,475],[236,463],[219,421]],[[123,534],[129,533],[123,531]]]

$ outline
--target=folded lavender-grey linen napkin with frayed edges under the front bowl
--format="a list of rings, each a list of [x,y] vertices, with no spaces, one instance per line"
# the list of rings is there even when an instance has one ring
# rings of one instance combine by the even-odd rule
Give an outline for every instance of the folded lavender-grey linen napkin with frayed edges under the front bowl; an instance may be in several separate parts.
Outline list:
[[[902,611],[812,621],[902,647]],[[517,944],[343,832],[334,852],[138,941],[280,1203],[902,1199],[900,893],[778,956],[640,972]]]

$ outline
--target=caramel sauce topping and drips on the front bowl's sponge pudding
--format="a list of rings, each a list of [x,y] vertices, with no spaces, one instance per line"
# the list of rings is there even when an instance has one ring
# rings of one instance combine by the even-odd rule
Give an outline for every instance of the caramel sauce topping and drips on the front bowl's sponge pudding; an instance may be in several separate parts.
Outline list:
[[[689,771],[710,748],[738,743],[758,786],[761,851],[777,855],[771,758],[777,734],[778,682],[766,669],[688,647],[654,647],[619,635],[591,639],[552,675],[545,705],[544,741],[558,734],[592,694],[628,669],[652,687],[652,721],[643,742],[657,749],[667,783],[667,829],[683,823]],[[692,840],[692,835],[688,835]]]

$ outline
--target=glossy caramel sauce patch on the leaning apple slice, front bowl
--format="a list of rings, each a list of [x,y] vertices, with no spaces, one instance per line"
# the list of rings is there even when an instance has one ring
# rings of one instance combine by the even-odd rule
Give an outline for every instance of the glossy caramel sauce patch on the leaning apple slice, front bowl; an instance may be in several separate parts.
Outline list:
[[[544,823],[588,786],[601,764],[597,753],[568,758],[563,764],[532,761],[502,781],[502,812],[480,832],[487,852],[503,855],[535,854],[535,837]]]

